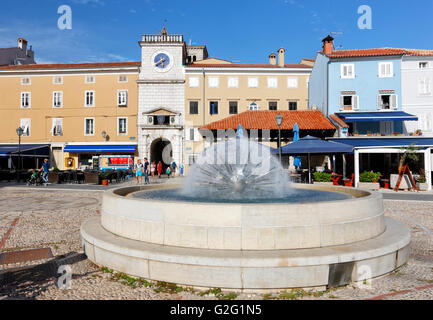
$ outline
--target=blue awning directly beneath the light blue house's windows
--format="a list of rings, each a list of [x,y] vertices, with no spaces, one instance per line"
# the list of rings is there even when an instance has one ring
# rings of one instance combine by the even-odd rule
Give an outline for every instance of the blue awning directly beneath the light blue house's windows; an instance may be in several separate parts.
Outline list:
[[[418,117],[403,111],[341,112],[337,115],[346,122],[418,121]]]

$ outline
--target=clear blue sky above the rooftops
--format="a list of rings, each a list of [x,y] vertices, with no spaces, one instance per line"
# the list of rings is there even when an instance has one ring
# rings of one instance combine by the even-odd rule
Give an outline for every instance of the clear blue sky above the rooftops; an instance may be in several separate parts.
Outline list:
[[[72,8],[72,30],[59,30],[60,5]],[[358,29],[358,7],[372,9],[372,30]],[[26,38],[38,63],[139,61],[137,41],[167,30],[206,44],[210,56],[267,63],[286,49],[286,63],[315,58],[336,32],[342,49],[433,49],[431,0],[2,0],[0,47]]]

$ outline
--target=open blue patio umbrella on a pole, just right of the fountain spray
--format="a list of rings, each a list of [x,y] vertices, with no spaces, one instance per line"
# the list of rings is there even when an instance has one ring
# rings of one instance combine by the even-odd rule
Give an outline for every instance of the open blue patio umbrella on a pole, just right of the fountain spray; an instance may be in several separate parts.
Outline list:
[[[310,156],[311,154],[335,154],[335,153],[352,153],[353,146],[325,141],[316,137],[306,136],[281,148],[282,154],[291,155],[307,155],[308,157],[308,181],[311,183],[310,173]],[[278,149],[272,151],[273,154],[278,153]]]

